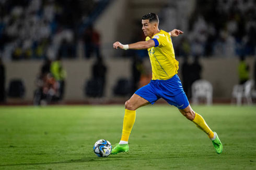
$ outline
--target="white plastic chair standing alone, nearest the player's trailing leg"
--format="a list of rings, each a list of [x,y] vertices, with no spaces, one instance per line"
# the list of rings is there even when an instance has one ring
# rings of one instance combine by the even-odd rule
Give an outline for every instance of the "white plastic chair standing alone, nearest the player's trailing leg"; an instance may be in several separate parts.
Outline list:
[[[213,86],[206,80],[197,80],[192,84],[192,103],[198,104],[199,99],[204,99],[207,105],[213,101]]]

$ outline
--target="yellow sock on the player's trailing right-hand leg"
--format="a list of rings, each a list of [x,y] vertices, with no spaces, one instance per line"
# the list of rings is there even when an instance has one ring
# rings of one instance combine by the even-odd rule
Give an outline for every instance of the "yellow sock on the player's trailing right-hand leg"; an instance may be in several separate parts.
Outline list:
[[[213,131],[206,124],[206,122],[204,121],[203,117],[200,114],[195,113],[195,118],[194,118],[194,120],[192,122],[194,122],[194,124],[196,124],[196,126],[198,128],[203,130],[209,136],[209,138],[213,138],[214,137]]]

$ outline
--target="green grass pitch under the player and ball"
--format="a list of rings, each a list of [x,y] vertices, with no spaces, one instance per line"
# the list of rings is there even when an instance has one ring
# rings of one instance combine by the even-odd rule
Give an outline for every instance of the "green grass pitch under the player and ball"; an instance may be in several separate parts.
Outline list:
[[[0,169],[256,169],[256,107],[196,106],[223,142],[176,108],[137,110],[130,151],[98,158],[98,139],[119,142],[123,106],[0,107]]]

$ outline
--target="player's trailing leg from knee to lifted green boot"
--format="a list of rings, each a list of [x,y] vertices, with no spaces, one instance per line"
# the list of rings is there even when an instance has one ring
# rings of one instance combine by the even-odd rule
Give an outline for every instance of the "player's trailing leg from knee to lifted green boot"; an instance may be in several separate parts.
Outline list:
[[[203,130],[208,135],[208,137],[212,140],[213,146],[218,154],[222,153],[223,146],[222,142],[218,138],[217,133],[211,130],[211,128],[207,125],[200,114],[194,112],[190,105],[187,108],[179,109],[179,111],[181,114],[187,117],[188,120],[192,121],[198,128]]]

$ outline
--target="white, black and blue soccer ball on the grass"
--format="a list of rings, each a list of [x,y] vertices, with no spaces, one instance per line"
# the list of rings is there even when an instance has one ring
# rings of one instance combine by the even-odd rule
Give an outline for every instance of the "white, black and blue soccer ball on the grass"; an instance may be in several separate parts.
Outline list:
[[[94,144],[94,153],[99,157],[108,157],[112,151],[112,145],[108,140],[100,139]]]

